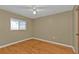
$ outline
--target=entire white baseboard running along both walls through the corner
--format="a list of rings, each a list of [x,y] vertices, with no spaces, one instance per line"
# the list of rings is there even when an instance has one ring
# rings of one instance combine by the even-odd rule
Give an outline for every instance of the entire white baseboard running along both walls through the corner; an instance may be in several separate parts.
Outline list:
[[[62,44],[62,43],[53,42],[53,41],[48,41],[48,40],[45,40],[45,39],[40,39],[40,38],[35,38],[35,37],[26,38],[26,39],[24,39],[24,40],[20,40],[20,41],[16,41],[16,42],[11,42],[11,43],[8,43],[8,44],[5,44],[5,45],[0,46],[0,48],[4,48],[4,47],[7,47],[7,46],[10,46],[10,45],[19,43],[19,42],[23,42],[23,41],[26,41],[26,40],[30,40],[30,39],[36,39],[36,40],[40,40],[40,41],[44,41],[44,42],[49,42],[49,43],[51,43],[51,44],[57,44],[57,45],[62,45],[62,46],[65,46],[65,47],[69,47],[69,48],[72,48],[72,50],[76,53],[76,50],[75,50],[74,47],[71,46],[71,45]]]

